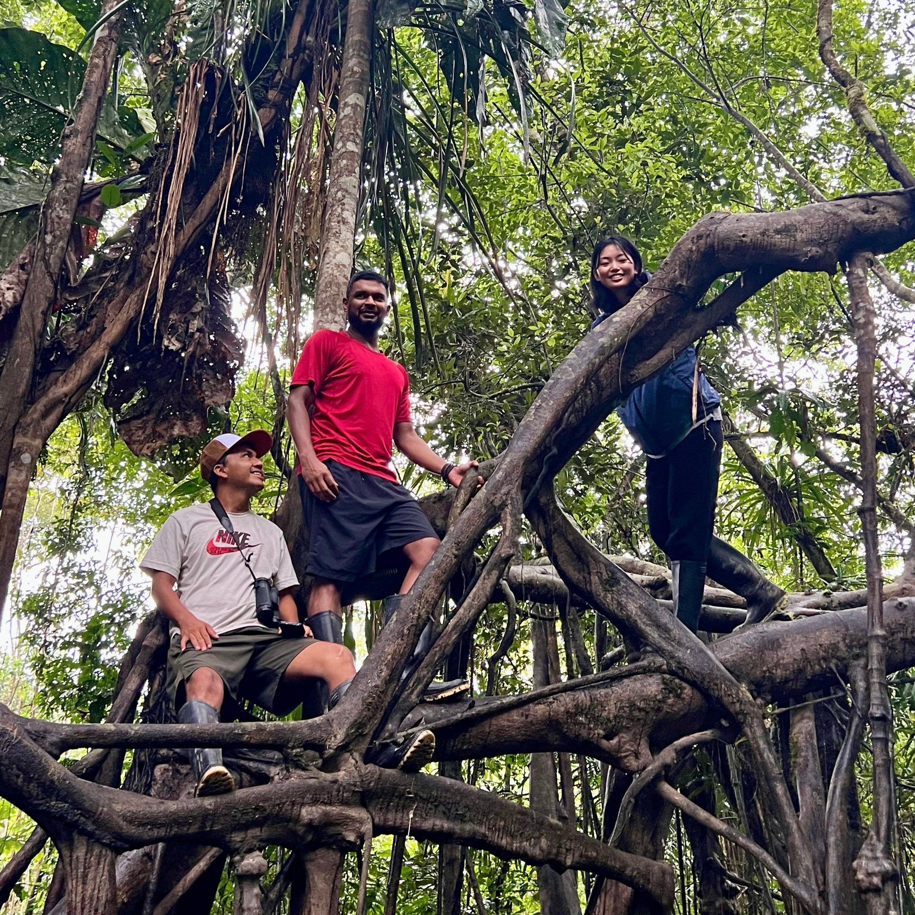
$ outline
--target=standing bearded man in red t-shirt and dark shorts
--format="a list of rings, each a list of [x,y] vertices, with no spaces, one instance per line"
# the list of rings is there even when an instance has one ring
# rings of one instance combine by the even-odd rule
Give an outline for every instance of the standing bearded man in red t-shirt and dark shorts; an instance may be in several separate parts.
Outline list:
[[[388,281],[374,271],[350,279],[346,331],[318,330],[293,372],[287,417],[301,461],[299,492],[311,543],[306,572],[315,576],[308,625],[318,639],[342,642],[340,586],[371,574],[388,550],[410,563],[400,594],[388,597],[384,621],[413,586],[439,540],[413,495],[397,481],[392,441],[419,467],[459,486],[477,467],[439,458],[410,419],[410,381],[402,365],[378,349],[391,306]],[[406,675],[432,647],[426,627]],[[444,686],[444,688],[443,688]],[[464,681],[438,684],[427,698],[467,690]]]

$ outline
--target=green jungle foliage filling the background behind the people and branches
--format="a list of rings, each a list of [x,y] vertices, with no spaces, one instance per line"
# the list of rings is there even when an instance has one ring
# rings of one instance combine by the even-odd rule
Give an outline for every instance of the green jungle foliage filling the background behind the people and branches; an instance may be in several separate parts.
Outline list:
[[[0,270],[37,230],[101,9],[92,0],[0,0]],[[171,511],[204,498],[195,472],[199,447],[227,428],[282,429],[282,392],[312,321],[346,26],[345,5],[321,7],[309,33],[316,50],[308,80],[287,100],[285,123],[248,130],[274,85],[294,12],[285,0],[124,5],[66,284],[32,393],[74,364],[96,303],[139,269],[129,245],[151,231],[151,201],[175,180],[169,169],[176,160],[187,157],[188,210],[232,156],[243,155],[244,178],[221,201],[215,240],[192,242],[179,254],[170,285],[163,281],[165,292],[145,306],[148,313],[113,348],[38,458],[4,621],[0,700],[18,714],[104,719],[118,661],[150,609],[137,557]],[[654,270],[707,212],[763,213],[811,202],[809,188],[747,122],[829,199],[896,187],[823,66],[811,0],[571,0],[565,7],[556,0],[380,0],[375,15],[356,263],[393,276],[383,346],[410,371],[420,430],[442,454],[484,460],[505,450],[587,330],[587,264],[597,239],[630,236]],[[867,86],[871,111],[896,152],[915,163],[915,5],[843,0],[834,16],[837,54]],[[178,128],[188,121],[178,113],[186,112],[189,74],[205,98],[194,142],[182,152]],[[915,280],[913,250],[907,244],[882,258],[905,285]],[[731,278],[717,281],[708,298]],[[879,533],[890,578],[904,573],[915,545],[915,312],[911,299],[876,278],[871,285]],[[0,296],[0,359],[8,358],[16,315],[4,303]],[[746,446],[742,454],[726,450],[717,533],[791,591],[865,587],[854,481],[855,342],[842,273],[780,275],[740,308],[737,323],[705,337],[701,358],[723,394],[728,436]],[[268,459],[258,511],[271,513],[283,501],[290,451],[283,433]],[[748,451],[757,464],[748,463]],[[770,491],[787,501],[790,518],[760,487],[757,465]],[[435,479],[398,468],[417,495],[436,489]],[[566,511],[604,553],[662,563],[647,532],[643,486],[643,458],[615,415],[556,478]],[[814,567],[801,533],[819,545],[831,574]],[[529,526],[521,544],[525,561],[544,556]],[[478,553],[489,546],[484,541]],[[597,670],[621,641],[593,609],[580,612],[587,665]],[[511,650],[498,683],[490,684],[487,662],[509,613],[504,603],[490,604],[476,630],[475,693],[532,688],[537,620],[558,630],[564,678],[591,672],[576,655],[568,608],[522,600]],[[348,633],[360,661],[377,636],[378,614],[369,604],[350,611]],[[915,910],[910,679],[894,674],[891,697],[899,893]],[[817,705],[818,727],[830,716],[845,727],[847,705]],[[771,725],[790,768],[783,710],[773,710]],[[735,778],[748,770],[742,754],[739,743],[697,751],[681,790],[711,795],[719,816],[746,829],[739,795],[721,783],[724,770]],[[125,771],[131,761],[128,754]],[[471,759],[453,774],[526,803],[530,764],[530,754]],[[599,837],[607,767],[561,753],[555,764],[573,825]],[[869,822],[870,774],[864,754],[856,770],[860,823]],[[675,867],[677,910],[686,915],[710,910],[710,891],[679,816],[667,859]],[[0,802],[0,820],[2,866],[32,824],[8,802]],[[390,847],[387,836],[372,846],[371,911],[382,910]],[[284,861],[276,847],[267,857],[265,884]],[[727,884],[730,898],[716,897],[722,911],[792,905],[740,849],[722,844],[718,857],[735,878]],[[8,911],[45,904],[55,860],[48,845],[17,884]],[[346,867],[342,905],[350,911],[356,856]],[[436,845],[407,842],[399,911],[436,906],[439,868]],[[464,868],[461,911],[541,910],[532,889],[536,868],[482,851],[467,851]],[[577,886],[584,903],[593,877],[580,872]],[[442,910],[441,899],[437,904]],[[231,907],[227,867],[213,910]]]

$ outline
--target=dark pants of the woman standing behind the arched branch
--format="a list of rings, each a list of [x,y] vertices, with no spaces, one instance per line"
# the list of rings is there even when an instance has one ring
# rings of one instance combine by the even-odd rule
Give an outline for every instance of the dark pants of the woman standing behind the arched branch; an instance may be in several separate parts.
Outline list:
[[[705,563],[715,528],[721,422],[699,425],[645,469],[651,539],[672,561]]]

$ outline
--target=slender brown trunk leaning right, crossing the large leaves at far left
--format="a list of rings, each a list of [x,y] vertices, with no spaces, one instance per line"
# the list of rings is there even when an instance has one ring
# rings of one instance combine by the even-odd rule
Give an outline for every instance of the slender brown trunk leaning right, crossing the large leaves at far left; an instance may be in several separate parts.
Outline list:
[[[102,16],[110,13],[116,5],[117,0],[105,0]],[[48,314],[57,300],[60,267],[70,242],[73,217],[95,145],[95,129],[108,91],[120,34],[120,13],[108,19],[95,33],[80,97],[76,101],[73,118],[64,129],[60,157],[51,172],[48,198],[41,208],[32,269],[3,373],[0,374],[0,496],[5,490],[13,431],[19,417],[25,413],[38,349],[48,323]],[[38,454],[27,452],[19,456],[29,470],[37,458]],[[0,597],[2,606],[3,598]]]

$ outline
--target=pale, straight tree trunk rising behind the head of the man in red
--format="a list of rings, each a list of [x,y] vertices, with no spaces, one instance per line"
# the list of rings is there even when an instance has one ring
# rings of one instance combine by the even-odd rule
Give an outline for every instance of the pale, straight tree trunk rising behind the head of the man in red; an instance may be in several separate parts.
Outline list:
[[[315,280],[315,330],[340,330],[346,322],[343,298],[352,272],[356,211],[359,209],[372,22],[371,0],[350,0],[340,69],[337,126],[334,128]]]

